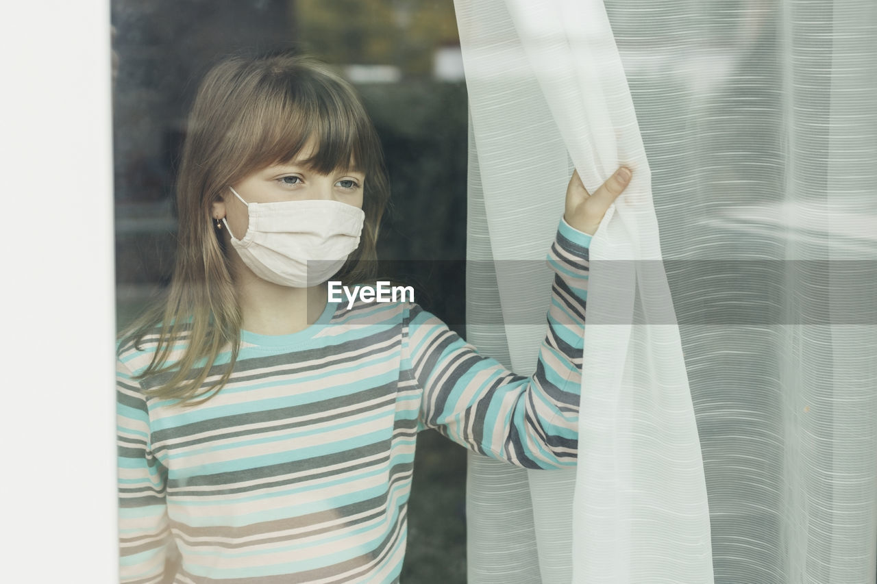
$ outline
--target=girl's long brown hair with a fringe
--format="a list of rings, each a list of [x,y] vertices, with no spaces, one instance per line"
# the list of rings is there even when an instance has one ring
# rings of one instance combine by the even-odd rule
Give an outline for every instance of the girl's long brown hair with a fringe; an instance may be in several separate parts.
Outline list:
[[[264,167],[294,160],[311,136],[308,160],[329,174],[351,161],[366,174],[360,246],[336,279],[373,277],[389,182],[374,125],[349,83],[310,57],[292,53],[232,57],[204,77],[189,115],[176,182],[176,263],[166,297],[132,325],[119,352],[146,338],[157,345],[137,377],[149,395],[197,405],[225,386],[240,348],[241,314],[223,240],[210,217],[230,184]],[[168,362],[178,343],[180,359]],[[226,350],[227,365],[217,366]],[[214,381],[207,381],[210,377]]]

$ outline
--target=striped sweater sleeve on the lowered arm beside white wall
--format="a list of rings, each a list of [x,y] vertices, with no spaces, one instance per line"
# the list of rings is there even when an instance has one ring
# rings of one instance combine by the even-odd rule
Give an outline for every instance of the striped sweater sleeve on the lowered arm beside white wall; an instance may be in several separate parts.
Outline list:
[[[149,412],[139,383],[117,369],[119,579],[162,581],[167,559],[167,476],[150,450]]]

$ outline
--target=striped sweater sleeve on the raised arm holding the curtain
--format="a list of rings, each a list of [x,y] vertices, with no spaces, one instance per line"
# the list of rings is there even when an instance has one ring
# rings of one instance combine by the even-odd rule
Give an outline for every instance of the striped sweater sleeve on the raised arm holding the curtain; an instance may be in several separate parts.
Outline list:
[[[554,272],[547,333],[531,377],[482,356],[411,306],[403,358],[423,389],[419,427],[516,466],[575,465],[590,239],[561,220],[547,258]]]

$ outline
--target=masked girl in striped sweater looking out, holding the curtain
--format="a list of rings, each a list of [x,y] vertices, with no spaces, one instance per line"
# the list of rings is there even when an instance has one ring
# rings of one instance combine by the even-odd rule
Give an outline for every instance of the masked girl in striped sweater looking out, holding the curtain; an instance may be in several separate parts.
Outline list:
[[[118,348],[125,582],[397,582],[417,431],[528,468],[574,466],[588,244],[624,190],[577,174],[548,254],[531,378],[367,281],[389,187],[353,89],[289,54],[203,81],[177,183],[166,302]]]

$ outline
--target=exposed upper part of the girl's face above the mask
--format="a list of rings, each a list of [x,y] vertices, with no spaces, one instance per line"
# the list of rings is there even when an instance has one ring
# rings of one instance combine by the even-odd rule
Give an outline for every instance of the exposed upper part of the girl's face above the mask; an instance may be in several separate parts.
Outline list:
[[[278,203],[308,199],[335,200],[362,209],[362,188],[366,175],[343,168],[331,174],[318,174],[303,164],[316,153],[316,141],[310,139],[296,160],[262,168],[232,185],[247,203]],[[246,205],[231,189],[224,199],[213,203],[212,217],[228,222],[232,235],[243,239],[249,227]]]

